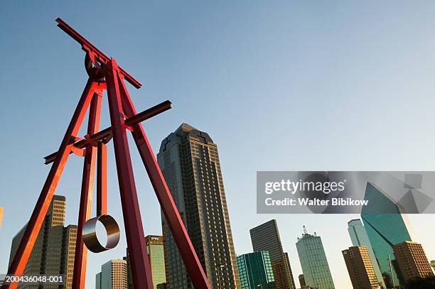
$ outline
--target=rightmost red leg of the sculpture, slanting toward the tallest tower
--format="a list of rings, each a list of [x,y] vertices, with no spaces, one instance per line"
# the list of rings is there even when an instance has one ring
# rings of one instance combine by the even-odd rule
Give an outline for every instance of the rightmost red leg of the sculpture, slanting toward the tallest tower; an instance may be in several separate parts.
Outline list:
[[[133,103],[129,97],[129,92],[127,92],[127,87],[125,87],[122,80],[119,80],[119,88],[122,93],[122,107],[125,114],[127,114],[127,117],[134,116],[136,114],[136,109],[134,109]],[[205,276],[203,266],[201,266],[198,255],[190,241],[186,227],[184,227],[183,220],[178,213],[175,202],[173,202],[171,192],[169,192],[166,181],[163,178],[159,164],[157,163],[148,138],[146,137],[144,128],[141,124],[134,124],[132,129],[134,141],[136,142],[146,172],[148,173],[151,184],[156,192],[157,199],[159,199],[163,214],[168,221],[173,238],[178,246],[178,251],[180,251],[181,257],[183,258],[190,280],[192,280],[195,288],[211,288],[207,276]]]

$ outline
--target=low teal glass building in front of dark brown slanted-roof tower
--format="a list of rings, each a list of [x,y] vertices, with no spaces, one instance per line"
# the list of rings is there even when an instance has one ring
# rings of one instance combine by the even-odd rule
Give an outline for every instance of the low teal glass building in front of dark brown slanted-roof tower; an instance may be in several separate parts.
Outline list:
[[[274,273],[268,251],[237,256],[241,289],[275,289]]]

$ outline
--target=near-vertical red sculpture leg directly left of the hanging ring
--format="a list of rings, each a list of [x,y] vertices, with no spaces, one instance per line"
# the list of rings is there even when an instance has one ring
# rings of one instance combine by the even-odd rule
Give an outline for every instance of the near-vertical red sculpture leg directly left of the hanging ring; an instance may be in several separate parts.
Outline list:
[[[97,133],[100,126],[102,88],[95,83],[92,86],[94,96],[90,104],[87,136]],[[82,193],[80,195],[80,209],[77,223],[77,241],[75,243],[73,289],[85,288],[87,249],[83,244],[82,230],[85,222],[90,219],[92,206],[92,192],[94,188],[95,158],[97,148],[88,144],[85,148],[83,163]]]

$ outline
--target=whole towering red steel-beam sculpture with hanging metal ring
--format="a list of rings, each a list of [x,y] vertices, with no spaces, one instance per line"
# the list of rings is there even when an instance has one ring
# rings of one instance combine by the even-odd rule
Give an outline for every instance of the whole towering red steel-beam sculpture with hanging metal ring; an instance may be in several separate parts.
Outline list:
[[[77,243],[75,249],[73,289],[85,288],[87,249],[100,252],[112,249],[119,241],[117,222],[107,214],[106,190],[106,143],[113,139],[114,155],[117,165],[119,191],[122,202],[124,227],[127,234],[127,246],[131,261],[131,273],[134,288],[152,289],[153,281],[148,254],[146,252],[144,228],[134,183],[131,157],[127,141],[127,130],[131,134],[139,150],[146,172],[156,192],[163,214],[168,221],[173,237],[186,265],[190,279],[195,288],[211,288],[193,249],[192,242],[178,213],[171,192],[156,161],[141,121],[171,109],[171,102],[166,101],[141,113],[136,113],[124,80],[139,89],[141,84],[117,65],[113,58],[108,58],[92,43],[80,36],[62,19],[56,19],[60,29],[75,39],[82,50],[85,50],[85,68],[89,80],[74,111],[73,118],[56,153],[45,157],[45,164],[53,163],[47,180],[36,202],[31,218],[23,234],[21,243],[9,266],[8,274],[21,275],[35,244],[38,232],[43,224],[55,188],[62,175],[65,163],[71,153],[84,157],[80,209],[77,225]],[[103,91],[107,90],[111,127],[99,130],[101,100]],[[89,109],[87,134],[77,137],[80,125]],[[96,165],[97,163],[97,165]],[[90,219],[92,205],[92,188],[97,167],[97,217]],[[107,244],[102,246],[95,234],[95,224],[102,222],[107,230]],[[86,246],[84,246],[86,245]],[[18,283],[4,284],[1,289],[17,288]]]

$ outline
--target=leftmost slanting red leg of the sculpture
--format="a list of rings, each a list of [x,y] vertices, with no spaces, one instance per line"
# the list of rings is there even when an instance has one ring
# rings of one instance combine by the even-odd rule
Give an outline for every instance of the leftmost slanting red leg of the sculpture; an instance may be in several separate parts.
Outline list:
[[[23,238],[21,239],[20,245],[15,253],[14,260],[9,266],[8,274],[19,275],[22,274],[28,257],[31,254],[33,245],[35,244],[36,238],[38,237],[39,230],[41,229],[43,219],[45,214],[47,214],[50,202],[53,199],[55,188],[58,185],[60,175],[62,175],[65,163],[70,156],[70,151],[73,148],[73,142],[76,137],[77,132],[80,129],[83,118],[85,117],[87,107],[89,107],[92,98],[92,80],[87,80],[87,84],[80,97],[80,101],[74,111],[73,118],[70,121],[68,129],[63,137],[62,143],[60,143],[60,148],[58,150],[58,155],[50,168],[47,180],[39,195],[38,202],[36,202],[35,208],[31,218],[27,224],[26,231],[24,231]],[[18,283],[11,285],[2,285],[1,289],[15,289]]]

